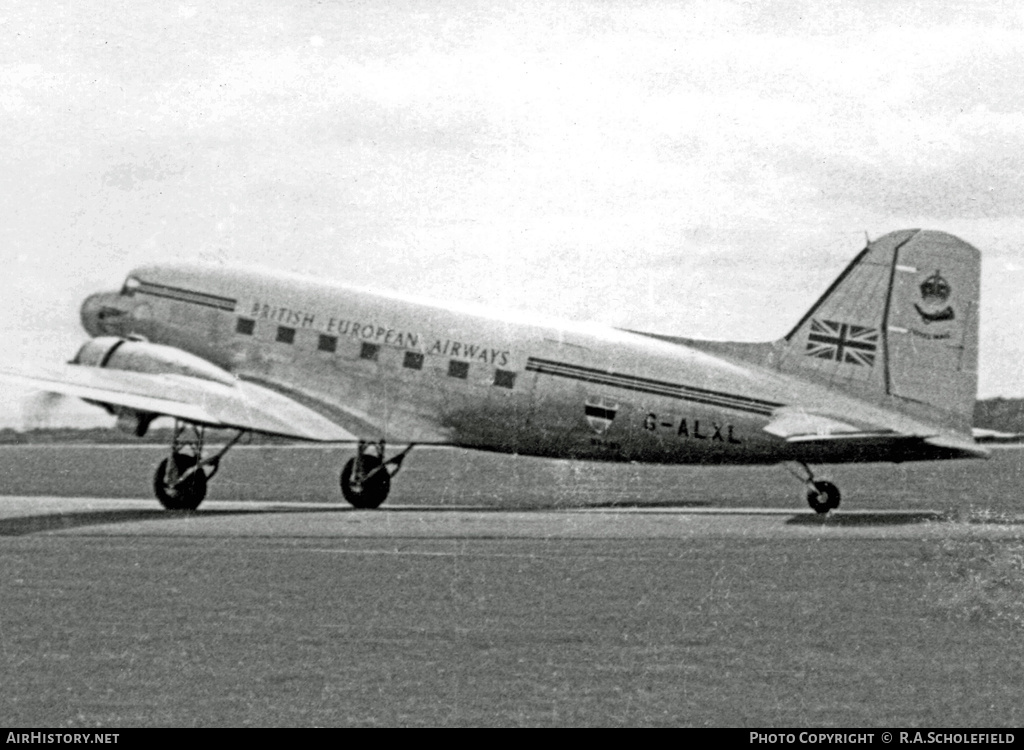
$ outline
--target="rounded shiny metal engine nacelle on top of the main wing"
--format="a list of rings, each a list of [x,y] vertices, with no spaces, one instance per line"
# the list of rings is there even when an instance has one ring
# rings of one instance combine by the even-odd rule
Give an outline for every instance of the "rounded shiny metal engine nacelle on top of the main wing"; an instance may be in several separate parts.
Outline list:
[[[234,384],[233,375],[201,357],[173,346],[117,336],[97,336],[86,341],[71,364],[153,375],[187,375],[224,385]]]

